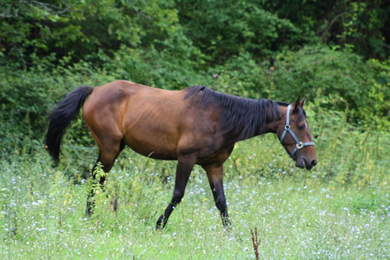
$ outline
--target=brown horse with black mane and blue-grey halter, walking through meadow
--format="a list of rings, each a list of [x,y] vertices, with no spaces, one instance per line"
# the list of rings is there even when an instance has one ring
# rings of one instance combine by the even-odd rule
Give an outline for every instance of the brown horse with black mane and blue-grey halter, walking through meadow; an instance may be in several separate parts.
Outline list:
[[[295,166],[310,170],[317,164],[302,109],[305,99],[289,104],[239,98],[204,86],[170,91],[116,80],[71,92],[51,113],[45,143],[58,161],[64,131],[82,106],[84,121],[99,146],[97,163],[101,162],[104,172],[110,171],[125,145],[150,158],[177,160],[173,197],[157,220],[157,229],[164,228],[183,198],[195,164],[206,171],[216,207],[227,226],[230,220],[222,171],[237,141],[274,133],[296,161]],[[104,181],[101,177],[100,183]],[[87,202],[87,216],[92,214],[92,206]]]

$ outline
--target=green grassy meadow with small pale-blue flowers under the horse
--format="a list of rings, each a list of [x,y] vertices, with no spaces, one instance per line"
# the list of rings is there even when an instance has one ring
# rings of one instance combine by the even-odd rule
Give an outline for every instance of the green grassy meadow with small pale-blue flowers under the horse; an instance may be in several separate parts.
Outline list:
[[[110,196],[98,194],[88,220],[90,184],[72,161],[53,169],[43,151],[0,160],[1,259],[254,259],[255,229],[259,259],[390,259],[390,189],[383,164],[366,172],[367,185],[337,182],[324,178],[326,165],[310,172],[294,168],[277,140],[242,142],[225,163],[233,229],[223,229],[207,177],[195,167],[184,200],[156,232],[171,200],[174,161],[126,151],[109,173]],[[359,175],[369,169],[357,168]],[[114,194],[116,213],[110,206]]]

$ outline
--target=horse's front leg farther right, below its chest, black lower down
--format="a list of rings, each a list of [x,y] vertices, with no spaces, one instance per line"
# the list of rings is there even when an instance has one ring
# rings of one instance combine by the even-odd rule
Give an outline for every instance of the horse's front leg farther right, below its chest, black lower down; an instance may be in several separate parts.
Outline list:
[[[226,205],[225,192],[223,191],[222,183],[222,164],[211,164],[202,166],[206,171],[207,178],[209,179],[210,187],[213,192],[215,205],[219,210],[219,214],[222,219],[222,224],[225,228],[231,227],[230,218],[228,215],[228,207]]]

